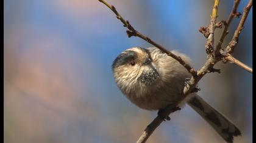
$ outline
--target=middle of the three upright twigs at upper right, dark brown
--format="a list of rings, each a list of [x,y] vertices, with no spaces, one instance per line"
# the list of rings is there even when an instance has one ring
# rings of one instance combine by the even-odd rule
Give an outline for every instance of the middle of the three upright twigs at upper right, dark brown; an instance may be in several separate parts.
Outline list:
[[[230,25],[233,17],[234,16],[239,17],[241,15],[241,13],[236,12],[236,9],[237,9],[239,3],[240,3],[240,0],[234,1],[233,8],[232,8],[231,12],[229,13],[229,18],[227,19],[227,21],[223,21],[224,30],[222,31],[221,38],[219,38],[218,45],[216,46],[216,50],[215,50],[216,55],[219,54],[219,50],[221,50],[222,42],[224,41],[226,35],[229,33],[229,31],[227,31],[227,29],[229,28],[229,25]]]

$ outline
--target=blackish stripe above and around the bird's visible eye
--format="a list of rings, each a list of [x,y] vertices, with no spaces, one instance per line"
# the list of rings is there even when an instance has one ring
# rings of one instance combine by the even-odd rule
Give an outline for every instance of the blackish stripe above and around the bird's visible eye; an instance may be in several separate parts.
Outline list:
[[[116,68],[116,67],[119,67],[120,65],[124,65],[124,64],[127,64],[129,62],[132,62],[137,57],[138,57],[137,53],[132,51],[132,50],[128,50],[124,53],[121,53],[115,59],[115,61],[113,61],[112,68]]]

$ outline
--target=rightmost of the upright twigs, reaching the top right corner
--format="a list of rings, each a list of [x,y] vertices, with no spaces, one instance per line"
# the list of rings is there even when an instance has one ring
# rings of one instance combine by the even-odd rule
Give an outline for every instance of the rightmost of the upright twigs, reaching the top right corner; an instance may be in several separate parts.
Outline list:
[[[243,28],[244,28],[244,22],[246,21],[246,18],[251,10],[251,7],[252,7],[252,0],[250,0],[248,2],[248,4],[246,5],[246,7],[244,7],[243,16],[238,24],[238,27],[235,30],[235,34],[233,35],[232,41],[230,41],[229,45],[227,45],[227,47],[226,47],[227,53],[233,53],[233,50],[234,50],[236,44],[238,43],[238,37],[241,33],[241,30],[243,30]]]

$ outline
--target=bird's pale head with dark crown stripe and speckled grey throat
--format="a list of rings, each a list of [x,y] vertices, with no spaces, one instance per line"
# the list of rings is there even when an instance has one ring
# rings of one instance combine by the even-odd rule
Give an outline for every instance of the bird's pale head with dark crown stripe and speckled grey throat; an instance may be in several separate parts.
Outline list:
[[[140,47],[122,52],[113,62],[112,70],[116,84],[124,93],[153,85],[159,77],[151,53]]]

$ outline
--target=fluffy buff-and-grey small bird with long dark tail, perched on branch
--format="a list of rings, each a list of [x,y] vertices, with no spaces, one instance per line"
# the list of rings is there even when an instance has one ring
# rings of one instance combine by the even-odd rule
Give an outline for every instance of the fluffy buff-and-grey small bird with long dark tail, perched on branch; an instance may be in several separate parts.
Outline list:
[[[188,56],[171,51],[188,64]],[[146,110],[163,110],[167,105],[177,104],[183,95],[186,79],[190,73],[171,56],[155,47],[132,47],[122,52],[112,64],[116,85],[135,105]],[[185,98],[190,105],[227,142],[240,130],[224,115],[207,104],[196,93]],[[179,104],[179,107],[182,105]]]

